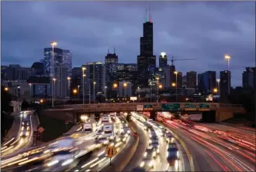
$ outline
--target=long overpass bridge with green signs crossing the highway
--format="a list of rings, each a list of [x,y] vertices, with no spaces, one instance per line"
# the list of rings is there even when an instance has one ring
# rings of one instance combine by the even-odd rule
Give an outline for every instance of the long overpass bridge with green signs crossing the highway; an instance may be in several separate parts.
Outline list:
[[[202,116],[212,116],[214,121],[230,119],[234,113],[245,113],[244,107],[240,104],[225,103],[98,103],[98,104],[73,104],[55,106],[53,109],[44,110],[47,115],[60,116],[60,118],[71,113],[72,120],[79,120],[83,113],[110,113],[110,112],[132,112],[150,111],[154,116],[156,112],[190,112],[201,111]],[[71,119],[69,119],[71,120]],[[74,121],[75,123],[75,121]]]

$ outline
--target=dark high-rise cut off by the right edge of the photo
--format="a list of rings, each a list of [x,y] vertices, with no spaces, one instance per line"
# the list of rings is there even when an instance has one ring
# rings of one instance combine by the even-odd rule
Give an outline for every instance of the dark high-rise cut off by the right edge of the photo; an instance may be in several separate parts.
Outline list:
[[[243,88],[255,89],[255,67],[246,67],[243,73]]]

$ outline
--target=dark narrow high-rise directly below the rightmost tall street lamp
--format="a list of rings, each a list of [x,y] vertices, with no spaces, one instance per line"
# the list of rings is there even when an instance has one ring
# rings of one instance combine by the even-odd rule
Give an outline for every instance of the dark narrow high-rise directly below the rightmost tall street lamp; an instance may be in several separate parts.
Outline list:
[[[227,95],[231,87],[231,73],[228,70],[220,71],[220,95]]]

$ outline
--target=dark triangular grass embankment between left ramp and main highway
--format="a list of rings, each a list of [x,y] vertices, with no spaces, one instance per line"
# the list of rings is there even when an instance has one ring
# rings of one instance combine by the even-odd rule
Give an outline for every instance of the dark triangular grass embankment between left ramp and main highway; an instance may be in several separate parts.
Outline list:
[[[38,115],[40,118],[40,126],[43,126],[42,141],[47,142],[61,137],[64,133],[71,129],[73,123],[65,124],[63,120],[57,120],[50,116]]]

